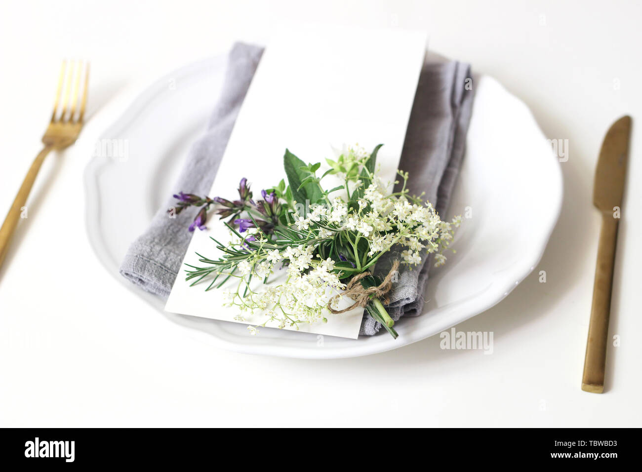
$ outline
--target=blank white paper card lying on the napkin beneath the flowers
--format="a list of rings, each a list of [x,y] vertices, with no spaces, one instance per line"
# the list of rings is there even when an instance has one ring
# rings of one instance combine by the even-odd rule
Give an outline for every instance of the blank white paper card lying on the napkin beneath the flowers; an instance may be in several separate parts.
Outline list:
[[[261,58],[209,197],[236,197],[242,177],[254,195],[275,186],[285,177],[286,148],[304,162],[325,163],[343,144],[372,150],[383,143],[377,164],[383,180],[394,182],[425,47],[426,34],[417,31],[310,27],[280,33]],[[210,236],[227,243],[229,231],[213,215],[207,228],[195,231],[184,263],[198,266],[196,252],[221,256]],[[178,274],[167,311],[236,321],[238,310],[222,306],[231,281],[205,292],[209,283],[191,287],[184,274]],[[278,284],[279,275],[271,283]],[[350,302],[342,300],[342,307]],[[329,314],[327,323],[301,323],[299,330],[357,338],[362,314],[363,308]],[[243,316],[246,324],[265,321],[261,313]]]

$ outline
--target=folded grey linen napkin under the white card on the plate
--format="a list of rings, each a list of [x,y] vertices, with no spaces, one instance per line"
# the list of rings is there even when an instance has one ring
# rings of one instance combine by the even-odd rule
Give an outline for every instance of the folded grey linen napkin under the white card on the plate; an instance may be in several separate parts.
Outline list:
[[[229,53],[220,100],[205,134],[193,145],[175,185],[175,193],[187,191],[207,195],[218,170],[225,146],[234,127],[241,103],[254,76],[263,49],[237,43]],[[464,88],[470,67],[458,62],[426,62],[421,71],[399,168],[409,171],[410,193],[425,192],[443,214],[453,189],[462,157],[473,101]],[[167,298],[182,265],[191,233],[186,231],[196,208],[168,218],[168,200],[159,209],[148,229],[132,243],[120,272],[148,292]],[[398,256],[394,252],[389,258]],[[428,259],[428,261],[426,261]],[[400,269],[390,292],[390,315],[397,320],[421,313],[430,258],[413,270]],[[390,260],[390,259],[389,259]],[[383,262],[383,261],[382,261]],[[378,265],[381,270],[384,263]],[[388,265],[388,268],[390,265]],[[381,326],[365,314],[360,334],[374,335]]]

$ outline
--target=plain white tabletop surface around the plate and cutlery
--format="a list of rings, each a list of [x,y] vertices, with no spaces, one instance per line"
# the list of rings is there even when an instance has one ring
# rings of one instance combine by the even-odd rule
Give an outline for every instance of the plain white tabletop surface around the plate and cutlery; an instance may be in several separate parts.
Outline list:
[[[641,4],[0,5],[3,215],[39,151],[60,60],[92,62],[91,120],[73,148],[49,156],[0,268],[1,426],[642,425]],[[492,355],[442,351],[437,337],[336,361],[220,351],[124,290],[94,257],[82,173],[101,131],[160,74],[299,21],[425,28],[429,48],[494,76],[544,134],[569,140],[564,207],[544,258],[507,299],[457,327],[493,331]],[[611,319],[621,345],[609,351],[607,392],[596,395],[580,390],[600,225],[593,171],[603,134],[625,113],[634,134]]]

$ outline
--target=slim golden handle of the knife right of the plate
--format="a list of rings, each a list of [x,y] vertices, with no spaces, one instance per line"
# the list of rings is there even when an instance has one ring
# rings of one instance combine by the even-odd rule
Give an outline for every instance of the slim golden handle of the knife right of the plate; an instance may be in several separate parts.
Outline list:
[[[610,211],[602,212],[602,229],[598,245],[598,260],[595,265],[589,338],[586,342],[584,374],[582,375],[582,390],[586,392],[602,393],[604,391],[611,288],[619,221]]]

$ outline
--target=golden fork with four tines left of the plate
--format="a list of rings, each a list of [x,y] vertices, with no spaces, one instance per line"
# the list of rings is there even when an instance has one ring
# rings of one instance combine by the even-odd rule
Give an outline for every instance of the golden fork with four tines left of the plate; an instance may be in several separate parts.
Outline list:
[[[49,152],[63,150],[78,139],[83,125],[83,118],[85,117],[88,85],[88,62],[85,64],[82,61],[70,62],[69,66],[67,66],[66,61],[62,62],[51,121],[49,121],[49,126],[42,136],[44,148],[31,164],[18,195],[15,196],[11,209],[0,228],[0,266],[9,248],[13,231],[25,208],[33,182],[38,175],[40,166],[42,166],[42,161],[44,161]],[[62,107],[61,110],[58,110],[59,105]]]

